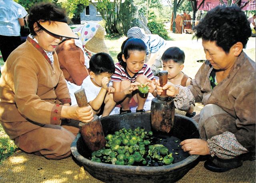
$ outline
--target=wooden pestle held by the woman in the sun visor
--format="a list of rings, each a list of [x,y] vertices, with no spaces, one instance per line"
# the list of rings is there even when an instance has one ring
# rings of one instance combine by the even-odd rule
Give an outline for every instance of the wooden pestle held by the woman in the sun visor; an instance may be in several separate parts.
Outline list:
[[[84,89],[74,92],[76,101],[79,107],[88,106],[87,98]],[[89,123],[79,123],[80,133],[84,143],[91,151],[98,151],[106,145],[105,135],[100,123],[100,118],[97,115],[93,116]]]

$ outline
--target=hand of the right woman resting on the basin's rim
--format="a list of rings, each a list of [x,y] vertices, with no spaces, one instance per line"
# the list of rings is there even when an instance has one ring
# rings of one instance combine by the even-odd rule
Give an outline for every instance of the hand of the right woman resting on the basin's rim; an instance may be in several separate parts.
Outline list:
[[[208,155],[210,150],[208,143],[202,139],[186,139],[180,143],[184,152],[188,151],[191,155]]]

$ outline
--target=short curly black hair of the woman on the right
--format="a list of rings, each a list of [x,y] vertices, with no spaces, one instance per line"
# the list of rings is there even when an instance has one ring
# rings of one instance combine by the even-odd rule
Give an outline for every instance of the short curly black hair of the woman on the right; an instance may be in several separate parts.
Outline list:
[[[213,8],[193,30],[194,36],[203,40],[216,41],[216,44],[226,53],[237,42],[242,42],[245,48],[252,34],[246,15],[237,6]]]

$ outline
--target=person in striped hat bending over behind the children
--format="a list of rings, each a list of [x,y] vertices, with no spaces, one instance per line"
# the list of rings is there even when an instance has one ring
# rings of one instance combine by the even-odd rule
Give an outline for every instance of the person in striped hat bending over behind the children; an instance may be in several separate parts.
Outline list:
[[[127,32],[128,38],[141,39],[147,48],[145,63],[156,76],[162,68],[161,56],[165,50],[166,41],[157,34],[144,34],[139,27],[132,27]]]

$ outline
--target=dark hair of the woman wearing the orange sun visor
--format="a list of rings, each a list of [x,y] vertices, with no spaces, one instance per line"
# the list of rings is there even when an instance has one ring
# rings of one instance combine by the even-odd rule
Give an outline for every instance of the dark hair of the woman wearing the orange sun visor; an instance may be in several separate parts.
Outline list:
[[[34,31],[34,23],[38,20],[58,21],[68,23],[68,17],[64,9],[50,2],[36,3],[30,8],[28,15],[28,28],[31,35],[36,35]],[[39,27],[38,31],[41,28]]]

